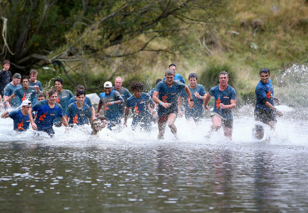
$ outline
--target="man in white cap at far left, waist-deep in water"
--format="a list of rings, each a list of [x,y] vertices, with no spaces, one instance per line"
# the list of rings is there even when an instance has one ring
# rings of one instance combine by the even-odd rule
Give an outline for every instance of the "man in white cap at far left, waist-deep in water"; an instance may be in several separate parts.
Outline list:
[[[25,100],[22,102],[22,109],[20,110],[13,110],[9,111],[6,110],[2,115],[1,118],[11,118],[13,119],[15,131],[27,131],[29,129],[30,119],[28,115],[28,111],[31,108],[31,102]]]

